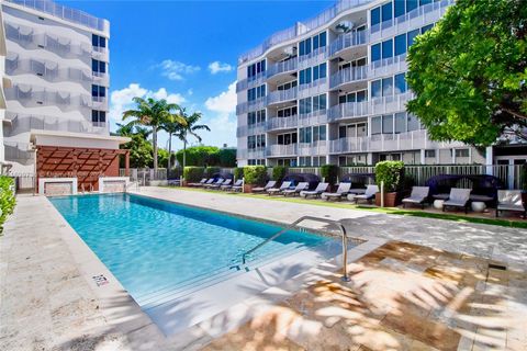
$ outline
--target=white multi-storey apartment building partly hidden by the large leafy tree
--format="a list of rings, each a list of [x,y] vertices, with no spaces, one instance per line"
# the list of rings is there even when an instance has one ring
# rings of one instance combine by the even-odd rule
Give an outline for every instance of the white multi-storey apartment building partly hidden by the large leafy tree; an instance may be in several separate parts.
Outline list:
[[[485,163],[485,150],[431,141],[405,109],[407,49],[453,2],[340,0],[242,55],[238,166]]]

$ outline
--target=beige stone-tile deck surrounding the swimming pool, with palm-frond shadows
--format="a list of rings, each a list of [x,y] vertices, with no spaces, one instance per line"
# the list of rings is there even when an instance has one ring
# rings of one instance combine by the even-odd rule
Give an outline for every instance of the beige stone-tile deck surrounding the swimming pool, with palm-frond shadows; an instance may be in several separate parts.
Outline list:
[[[351,258],[351,283],[327,264],[165,337],[45,197],[19,196],[0,237],[1,350],[526,349],[525,229],[212,192],[139,193],[283,224],[343,219],[370,250]]]

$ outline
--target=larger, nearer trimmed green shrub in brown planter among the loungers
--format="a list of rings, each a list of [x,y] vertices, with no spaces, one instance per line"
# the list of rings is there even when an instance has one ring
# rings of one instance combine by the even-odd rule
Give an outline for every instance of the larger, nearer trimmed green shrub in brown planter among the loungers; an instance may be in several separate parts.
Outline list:
[[[401,185],[404,179],[402,161],[381,161],[375,165],[375,182],[384,186],[384,206],[395,207],[401,202]],[[381,206],[381,193],[375,195],[375,205]]]

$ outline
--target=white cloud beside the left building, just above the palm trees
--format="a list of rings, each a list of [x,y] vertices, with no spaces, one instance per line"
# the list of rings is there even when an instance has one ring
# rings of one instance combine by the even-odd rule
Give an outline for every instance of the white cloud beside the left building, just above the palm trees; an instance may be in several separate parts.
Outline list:
[[[114,90],[111,94],[110,118],[114,122],[123,120],[123,112],[135,106],[133,98],[165,99],[170,103],[183,103],[184,98],[180,93],[168,93],[167,89],[159,88],[157,91],[142,88],[138,83],[131,83],[128,87]]]

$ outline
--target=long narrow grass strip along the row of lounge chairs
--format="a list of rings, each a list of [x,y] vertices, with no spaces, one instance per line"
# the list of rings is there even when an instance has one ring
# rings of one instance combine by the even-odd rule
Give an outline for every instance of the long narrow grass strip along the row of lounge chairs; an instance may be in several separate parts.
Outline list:
[[[175,188],[175,186],[162,186],[162,188],[211,193],[211,191],[204,190],[201,188]],[[261,199],[261,200],[298,203],[298,204],[304,204],[304,205],[309,204],[309,205],[315,205],[315,206],[325,206],[325,207],[344,208],[344,210],[361,210],[361,211],[384,213],[390,215],[445,219],[445,220],[452,220],[452,222],[459,222],[459,223],[487,224],[487,225],[512,227],[512,228],[527,228],[527,222],[525,220],[472,217],[472,216],[464,216],[462,214],[426,212],[417,208],[406,210],[406,208],[399,208],[399,207],[370,207],[370,206],[355,205],[346,202],[327,202],[327,201],[321,201],[321,200],[305,200],[300,197],[268,196],[266,194],[231,193],[231,192],[223,192],[223,191],[215,191],[214,193],[225,195],[225,196],[244,196],[244,197],[253,197],[253,199]]]

